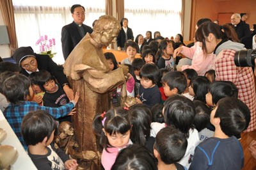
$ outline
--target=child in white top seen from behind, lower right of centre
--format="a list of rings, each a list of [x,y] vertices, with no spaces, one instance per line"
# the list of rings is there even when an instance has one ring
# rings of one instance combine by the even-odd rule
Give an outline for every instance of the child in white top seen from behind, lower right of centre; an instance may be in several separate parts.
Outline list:
[[[189,168],[195,147],[200,143],[198,131],[193,125],[195,106],[191,100],[182,95],[172,95],[164,102],[164,123],[151,123],[150,135],[153,137],[164,127],[175,127],[188,139],[188,147],[179,164]]]

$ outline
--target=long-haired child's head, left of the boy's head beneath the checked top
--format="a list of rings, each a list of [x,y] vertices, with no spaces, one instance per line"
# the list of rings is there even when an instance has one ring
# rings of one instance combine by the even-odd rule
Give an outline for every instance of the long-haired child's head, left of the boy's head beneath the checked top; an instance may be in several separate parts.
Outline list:
[[[200,100],[206,104],[205,95],[208,93],[210,81],[204,76],[195,77],[189,86],[189,95],[194,97],[194,100]]]

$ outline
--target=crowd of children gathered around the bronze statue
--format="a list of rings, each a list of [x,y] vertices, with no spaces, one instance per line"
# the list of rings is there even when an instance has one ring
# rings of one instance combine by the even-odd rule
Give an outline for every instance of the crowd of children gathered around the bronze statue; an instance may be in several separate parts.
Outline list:
[[[180,45],[184,45],[181,35],[175,37],[175,42],[160,38],[159,42],[140,44],[140,48],[129,40],[124,46],[127,58],[121,63],[113,53],[104,54],[109,72],[121,64],[129,68],[126,91],[137,102],[120,107],[121,87],[117,87],[109,95],[113,108],[97,113],[93,119],[104,169],[243,168],[239,139],[251,114],[238,99],[241,89],[231,81],[216,81],[214,70],[184,66],[182,72],[178,71],[175,59],[179,52],[190,52],[196,61],[196,53],[205,50],[199,42],[190,50],[177,47]],[[137,52],[141,52],[141,58],[135,58]],[[52,141],[58,123],[72,121],[68,115],[75,112],[78,93],[67,97],[63,84],[46,70],[28,72],[26,77],[17,73],[19,66],[1,62],[0,71],[0,109],[35,166],[76,169],[76,160],[52,147]]]

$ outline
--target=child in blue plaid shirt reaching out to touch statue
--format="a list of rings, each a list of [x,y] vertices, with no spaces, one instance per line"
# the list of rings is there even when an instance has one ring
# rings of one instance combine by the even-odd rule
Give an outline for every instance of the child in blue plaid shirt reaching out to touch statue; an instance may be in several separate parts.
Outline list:
[[[44,110],[48,111],[54,118],[60,118],[67,114],[73,114],[72,109],[79,99],[79,95],[76,93],[74,100],[58,108],[40,106],[35,102],[29,102],[28,100],[33,96],[33,89],[31,88],[31,82],[28,77],[22,74],[15,74],[12,77],[8,77],[8,79],[3,82],[2,89],[4,96],[8,102],[10,102],[3,112],[4,117],[12,127],[25,150],[27,146],[20,133],[20,124],[22,118],[29,111]]]

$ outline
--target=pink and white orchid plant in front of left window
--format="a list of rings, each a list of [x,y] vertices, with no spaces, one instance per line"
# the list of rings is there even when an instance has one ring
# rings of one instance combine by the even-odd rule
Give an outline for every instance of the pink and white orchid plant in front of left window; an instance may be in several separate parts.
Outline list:
[[[55,38],[48,39],[47,35],[40,36],[36,45],[39,45],[40,54],[47,54],[50,58],[53,58],[56,52],[53,52],[55,47]]]

